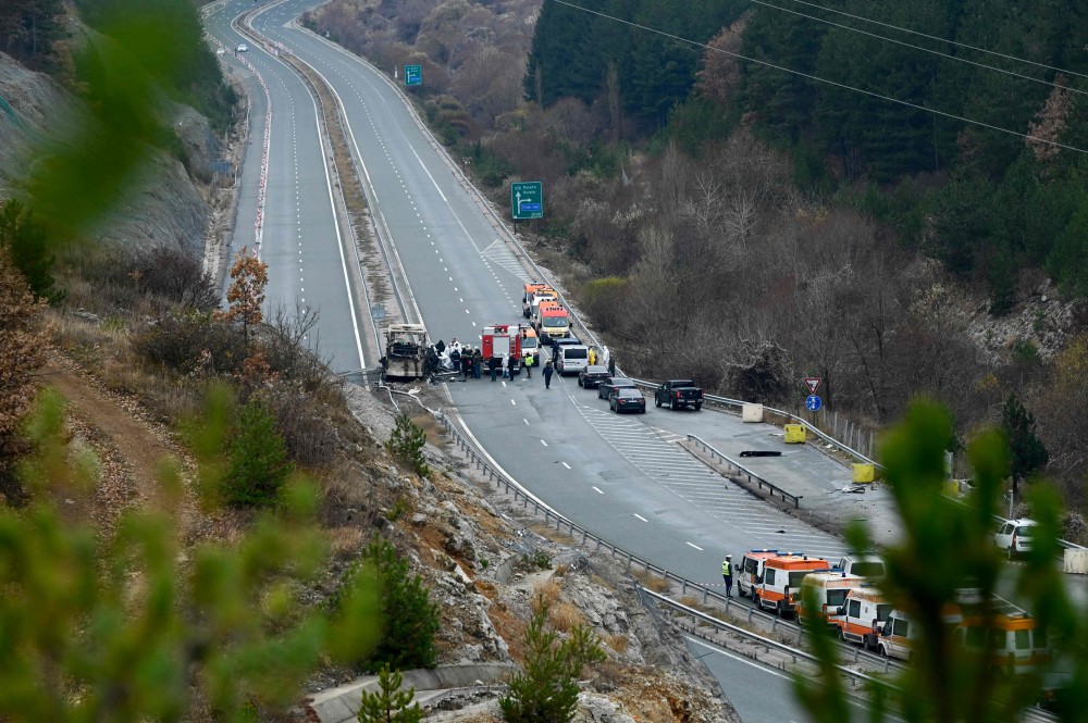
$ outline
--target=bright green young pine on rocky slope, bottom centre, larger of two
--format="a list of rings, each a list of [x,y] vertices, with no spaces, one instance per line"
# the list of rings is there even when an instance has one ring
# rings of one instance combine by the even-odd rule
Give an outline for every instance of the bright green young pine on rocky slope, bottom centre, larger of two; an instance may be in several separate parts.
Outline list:
[[[547,606],[537,599],[526,631],[524,672],[510,681],[509,693],[498,701],[507,723],[568,723],[578,707],[578,677],[582,669],[605,659],[597,637],[579,625],[570,637],[545,628]]]

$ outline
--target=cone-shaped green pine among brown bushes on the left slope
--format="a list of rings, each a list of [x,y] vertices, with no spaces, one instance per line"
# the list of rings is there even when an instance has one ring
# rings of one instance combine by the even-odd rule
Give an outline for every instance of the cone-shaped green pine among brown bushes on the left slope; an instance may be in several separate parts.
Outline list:
[[[242,408],[223,478],[228,504],[265,507],[276,502],[293,465],[268,404],[255,398]]]

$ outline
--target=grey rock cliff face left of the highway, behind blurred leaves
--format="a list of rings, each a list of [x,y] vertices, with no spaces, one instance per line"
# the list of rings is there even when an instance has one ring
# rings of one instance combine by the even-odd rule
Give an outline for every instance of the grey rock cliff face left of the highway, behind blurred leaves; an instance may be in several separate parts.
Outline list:
[[[15,196],[18,178],[34,162],[35,149],[58,136],[59,120],[76,110],[78,102],[49,76],[0,53],[0,199]],[[213,180],[209,163],[222,155],[222,149],[207,120],[189,108],[176,108],[172,126],[186,163],[152,149],[140,187],[114,210],[98,240],[203,252]]]

